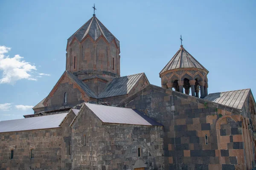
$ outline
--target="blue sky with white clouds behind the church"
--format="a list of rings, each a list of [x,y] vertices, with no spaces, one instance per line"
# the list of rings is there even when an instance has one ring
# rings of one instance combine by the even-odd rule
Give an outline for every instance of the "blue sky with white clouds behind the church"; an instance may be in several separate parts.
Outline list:
[[[93,3],[120,41],[121,76],[145,72],[160,86],[182,34],[209,70],[209,93],[251,88],[256,96],[256,1],[1,0],[0,120],[32,114],[51,91],[65,70],[67,38],[92,17]]]

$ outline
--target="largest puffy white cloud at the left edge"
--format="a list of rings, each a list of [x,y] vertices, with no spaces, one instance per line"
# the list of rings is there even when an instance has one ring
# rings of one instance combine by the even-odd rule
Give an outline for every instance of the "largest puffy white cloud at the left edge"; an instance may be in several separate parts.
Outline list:
[[[3,71],[0,83],[13,85],[20,79],[36,80],[30,74],[30,72],[36,70],[35,65],[26,62],[20,55],[15,55],[13,58],[6,56],[5,53],[10,50],[11,48],[0,46],[0,71]]]

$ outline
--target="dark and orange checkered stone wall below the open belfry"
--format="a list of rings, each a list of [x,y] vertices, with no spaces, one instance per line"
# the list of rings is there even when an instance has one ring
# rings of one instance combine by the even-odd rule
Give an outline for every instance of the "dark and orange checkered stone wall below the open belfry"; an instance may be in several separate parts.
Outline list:
[[[244,153],[253,156],[251,144],[245,144],[250,135],[244,136],[248,130],[242,129],[236,109],[154,85],[119,106],[143,111],[164,125],[165,169],[253,167],[244,158]]]

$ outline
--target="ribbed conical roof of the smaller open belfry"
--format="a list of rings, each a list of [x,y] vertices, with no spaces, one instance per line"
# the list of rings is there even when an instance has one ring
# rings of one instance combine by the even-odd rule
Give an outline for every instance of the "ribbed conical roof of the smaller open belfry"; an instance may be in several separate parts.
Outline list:
[[[200,62],[198,62],[191,54],[189,54],[182,45],[159,74],[176,68],[200,68],[207,71],[207,69],[204,68],[204,66],[201,65]]]

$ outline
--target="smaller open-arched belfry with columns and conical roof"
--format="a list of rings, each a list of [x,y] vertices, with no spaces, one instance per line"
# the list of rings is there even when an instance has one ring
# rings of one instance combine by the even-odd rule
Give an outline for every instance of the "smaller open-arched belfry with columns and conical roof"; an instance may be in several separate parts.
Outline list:
[[[180,38],[182,41],[182,39]],[[209,71],[204,68],[188,51],[180,49],[159,73],[163,88],[204,98],[208,95]]]

